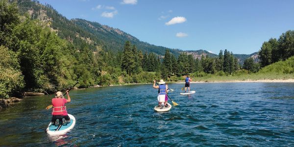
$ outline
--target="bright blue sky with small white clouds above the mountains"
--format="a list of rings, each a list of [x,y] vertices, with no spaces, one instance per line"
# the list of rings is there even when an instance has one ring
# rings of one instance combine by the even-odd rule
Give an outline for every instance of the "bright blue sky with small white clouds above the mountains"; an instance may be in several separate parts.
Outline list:
[[[294,30],[294,0],[40,0],[68,19],[109,25],[172,49],[250,54]]]

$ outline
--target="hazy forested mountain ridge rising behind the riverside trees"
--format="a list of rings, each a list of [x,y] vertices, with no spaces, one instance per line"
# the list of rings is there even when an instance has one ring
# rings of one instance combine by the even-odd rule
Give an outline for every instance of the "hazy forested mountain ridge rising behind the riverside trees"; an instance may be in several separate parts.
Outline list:
[[[22,13],[28,12],[32,19],[39,19],[47,24],[52,31],[56,31],[59,37],[73,43],[79,49],[85,42],[89,44],[91,49],[105,49],[109,51],[122,51],[125,41],[130,41],[132,45],[137,46],[143,52],[154,52],[163,56],[165,50],[169,49],[162,46],[151,45],[147,42],[140,41],[136,37],[118,29],[107,25],[101,25],[97,22],[90,22],[83,19],[68,20],[59,14],[51,5],[43,5],[37,0],[12,0],[18,3]],[[195,58],[201,58],[202,55],[209,57],[217,57],[217,54],[210,53],[206,50],[181,50],[169,49],[172,54],[178,56],[181,52],[192,54]],[[256,52],[252,54],[234,54],[243,64],[247,57],[253,56],[255,60]]]

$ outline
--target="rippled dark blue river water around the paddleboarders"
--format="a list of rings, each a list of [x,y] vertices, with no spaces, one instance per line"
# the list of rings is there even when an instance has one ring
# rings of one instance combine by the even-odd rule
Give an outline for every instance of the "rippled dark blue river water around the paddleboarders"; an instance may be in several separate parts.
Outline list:
[[[0,146],[294,146],[294,83],[193,83],[189,96],[169,86],[179,105],[167,113],[154,112],[151,84],[73,90],[76,125],[53,138],[53,95],[24,98],[0,111]]]

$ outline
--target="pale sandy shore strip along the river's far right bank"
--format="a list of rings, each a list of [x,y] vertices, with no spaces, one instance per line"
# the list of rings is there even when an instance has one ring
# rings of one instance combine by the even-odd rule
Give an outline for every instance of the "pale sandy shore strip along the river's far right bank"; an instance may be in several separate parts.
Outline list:
[[[262,79],[262,80],[231,80],[231,81],[192,81],[190,83],[293,83],[294,79]],[[183,84],[185,82],[176,82]]]

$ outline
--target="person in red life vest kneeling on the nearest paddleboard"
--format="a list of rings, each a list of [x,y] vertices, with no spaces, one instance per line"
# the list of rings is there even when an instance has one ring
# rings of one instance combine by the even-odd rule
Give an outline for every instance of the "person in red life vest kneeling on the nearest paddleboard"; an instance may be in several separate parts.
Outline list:
[[[69,96],[69,91],[66,91],[68,99],[65,99],[62,95],[62,92],[58,91],[55,94],[55,98],[52,98],[52,124],[56,126],[59,125],[59,121],[62,121],[63,124],[71,123],[71,119],[68,116],[66,111],[65,103],[71,102],[71,97]]]

